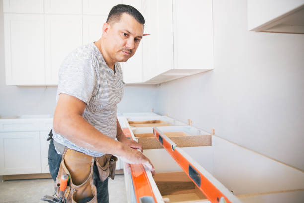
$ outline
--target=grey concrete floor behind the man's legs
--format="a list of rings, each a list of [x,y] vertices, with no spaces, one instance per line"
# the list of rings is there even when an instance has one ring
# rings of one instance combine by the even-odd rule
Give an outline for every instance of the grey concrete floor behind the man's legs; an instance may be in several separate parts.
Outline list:
[[[53,179],[4,181],[0,176],[0,203],[47,203],[40,201],[44,195],[54,194]],[[127,203],[124,175],[109,179],[109,202]]]

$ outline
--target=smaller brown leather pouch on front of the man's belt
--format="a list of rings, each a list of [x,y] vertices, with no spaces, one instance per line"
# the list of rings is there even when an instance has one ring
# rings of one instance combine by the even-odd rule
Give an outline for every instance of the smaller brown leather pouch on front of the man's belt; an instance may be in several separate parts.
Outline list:
[[[101,181],[108,177],[114,179],[117,157],[111,154],[105,154],[101,157],[95,157],[98,174]]]

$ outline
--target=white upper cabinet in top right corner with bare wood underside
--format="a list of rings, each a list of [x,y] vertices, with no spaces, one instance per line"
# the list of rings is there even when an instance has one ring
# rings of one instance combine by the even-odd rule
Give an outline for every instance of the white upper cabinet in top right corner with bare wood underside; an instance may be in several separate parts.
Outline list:
[[[304,0],[247,0],[248,30],[304,34]]]

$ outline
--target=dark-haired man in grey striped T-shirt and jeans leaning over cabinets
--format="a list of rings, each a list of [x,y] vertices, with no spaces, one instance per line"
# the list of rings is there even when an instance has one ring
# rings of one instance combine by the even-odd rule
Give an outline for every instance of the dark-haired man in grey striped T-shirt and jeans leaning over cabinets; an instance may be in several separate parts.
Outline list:
[[[125,137],[116,117],[116,104],[123,95],[118,62],[134,55],[144,23],[144,17],[132,6],[116,5],[102,27],[102,37],[77,48],[63,61],[48,156],[54,180],[60,168],[62,147],[92,157],[115,154],[126,163],[143,164],[154,173],[150,160],[137,150],[142,151],[143,147]],[[108,202],[108,179],[101,181],[96,168],[94,163],[98,203]]]

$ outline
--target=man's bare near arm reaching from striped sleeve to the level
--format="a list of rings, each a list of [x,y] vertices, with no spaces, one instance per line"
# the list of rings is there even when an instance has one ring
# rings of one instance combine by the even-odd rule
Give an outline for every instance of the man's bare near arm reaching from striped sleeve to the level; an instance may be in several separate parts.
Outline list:
[[[79,147],[116,154],[130,164],[144,164],[154,172],[150,160],[139,151],[118,142],[88,123],[82,114],[86,103],[76,97],[60,94],[55,108],[53,130]]]

